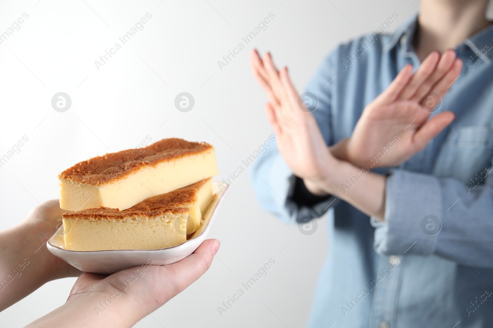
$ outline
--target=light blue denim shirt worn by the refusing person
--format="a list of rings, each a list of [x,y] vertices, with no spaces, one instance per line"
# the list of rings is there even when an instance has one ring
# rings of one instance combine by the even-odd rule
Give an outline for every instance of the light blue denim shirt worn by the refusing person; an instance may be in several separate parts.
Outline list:
[[[313,114],[327,145],[351,136],[406,63],[420,65],[416,26],[414,17],[393,34],[342,44],[322,62],[307,91],[318,98]],[[456,51],[463,69],[431,114],[452,111],[453,124],[399,167],[375,170],[389,174],[385,222],[333,198],[296,202],[275,143],[250,170],[261,206],[281,220],[328,212],[308,327],[493,327],[493,27]]]

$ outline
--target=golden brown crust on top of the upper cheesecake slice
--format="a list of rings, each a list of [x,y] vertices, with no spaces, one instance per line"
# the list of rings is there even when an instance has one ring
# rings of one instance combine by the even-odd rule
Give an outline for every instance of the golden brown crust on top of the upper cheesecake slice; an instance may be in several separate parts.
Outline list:
[[[213,149],[208,143],[188,142],[183,139],[163,139],[139,149],[128,149],[93,157],[75,164],[60,173],[59,179],[79,183],[106,184],[122,179],[143,167]]]

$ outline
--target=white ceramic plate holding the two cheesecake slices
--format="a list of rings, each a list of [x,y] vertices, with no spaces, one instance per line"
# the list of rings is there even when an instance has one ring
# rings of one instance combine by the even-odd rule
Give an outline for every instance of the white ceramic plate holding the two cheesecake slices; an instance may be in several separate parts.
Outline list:
[[[215,186],[215,185],[214,185]],[[48,250],[53,255],[61,258],[71,266],[84,272],[109,274],[126,268],[132,268],[143,264],[163,266],[178,262],[192,254],[209,234],[212,221],[221,205],[226,193],[226,188],[221,194],[216,193],[208,205],[204,220],[196,232],[187,236],[187,241],[176,246],[163,249],[114,249],[104,251],[75,251],[65,249],[63,240],[63,227],[46,242]]]

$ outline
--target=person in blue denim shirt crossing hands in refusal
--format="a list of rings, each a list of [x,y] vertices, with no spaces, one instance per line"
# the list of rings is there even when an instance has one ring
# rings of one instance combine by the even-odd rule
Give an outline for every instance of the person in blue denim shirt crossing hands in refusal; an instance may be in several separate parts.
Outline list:
[[[492,327],[487,6],[422,0],[338,46],[301,95],[252,52],[276,135],[250,171],[259,202],[286,222],[328,212],[309,327]]]

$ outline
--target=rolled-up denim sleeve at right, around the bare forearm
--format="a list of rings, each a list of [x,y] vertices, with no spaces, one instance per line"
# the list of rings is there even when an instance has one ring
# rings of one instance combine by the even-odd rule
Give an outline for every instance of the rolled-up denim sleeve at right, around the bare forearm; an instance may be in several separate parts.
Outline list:
[[[456,179],[395,170],[387,178],[385,221],[372,218],[378,253],[435,254],[464,266],[493,267],[492,180],[467,188]]]

